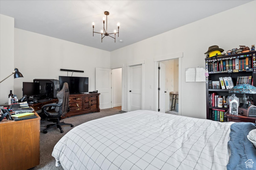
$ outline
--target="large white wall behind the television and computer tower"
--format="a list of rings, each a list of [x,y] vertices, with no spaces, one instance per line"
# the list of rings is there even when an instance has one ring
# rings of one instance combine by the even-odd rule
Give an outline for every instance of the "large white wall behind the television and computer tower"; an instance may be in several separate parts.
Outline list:
[[[89,91],[93,91],[95,67],[110,68],[110,52],[15,28],[14,65],[24,76],[14,80],[18,98],[22,97],[22,82],[67,76],[60,69],[83,70],[73,76],[89,77]]]

